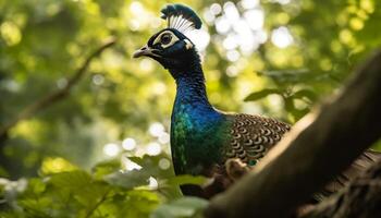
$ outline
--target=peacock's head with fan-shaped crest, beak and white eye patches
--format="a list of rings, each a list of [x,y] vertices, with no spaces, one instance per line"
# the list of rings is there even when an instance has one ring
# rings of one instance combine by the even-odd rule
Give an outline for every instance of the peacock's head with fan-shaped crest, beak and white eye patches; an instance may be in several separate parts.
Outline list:
[[[201,20],[190,8],[183,4],[169,4],[161,12],[161,17],[168,21],[168,27],[151,36],[147,45],[136,50],[133,57],[152,58],[171,73],[199,63],[195,45],[185,33],[199,29]]]

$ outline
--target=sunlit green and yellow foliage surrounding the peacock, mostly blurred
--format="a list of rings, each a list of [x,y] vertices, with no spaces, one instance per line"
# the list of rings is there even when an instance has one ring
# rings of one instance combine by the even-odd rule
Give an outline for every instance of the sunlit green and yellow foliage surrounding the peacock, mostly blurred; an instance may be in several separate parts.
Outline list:
[[[105,217],[107,211],[111,217],[140,217],[180,196],[173,189],[159,192],[160,178],[167,186],[201,181],[175,179],[172,173],[172,77],[150,59],[131,58],[165,26],[159,11],[173,2],[180,1],[0,0],[0,128],[30,104],[64,88],[95,49],[110,37],[118,39],[90,62],[69,96],[21,120],[1,138],[0,177],[4,179],[0,193],[5,197],[0,205],[19,215],[41,207],[34,213]],[[204,21],[202,29],[189,38],[204,58],[210,101],[225,111],[261,113],[294,123],[337,92],[381,44],[381,5],[376,0],[181,2],[194,8]],[[101,164],[94,167],[97,162]],[[127,186],[121,182],[124,175],[109,174],[121,167],[136,172],[142,166],[150,170]],[[23,179],[36,177],[39,179]],[[48,182],[47,177],[51,177]],[[77,186],[56,196],[54,190],[70,186],[67,180],[76,181]],[[95,186],[88,193],[99,193],[78,194],[78,186],[88,186],[89,181]],[[145,183],[150,185],[143,189]],[[24,202],[16,201],[21,190],[30,192],[22,195]],[[72,192],[79,195],[77,204],[49,205],[73,197],[67,194]],[[33,195],[46,199],[33,202],[28,198]],[[114,202],[106,204],[105,196]],[[86,197],[93,201],[82,204]],[[194,198],[180,201],[174,206],[162,205],[155,216],[170,216],[165,214],[169,208],[177,209],[173,216],[188,216],[192,209],[184,205],[204,205]],[[134,209],[119,209],[132,202]]]

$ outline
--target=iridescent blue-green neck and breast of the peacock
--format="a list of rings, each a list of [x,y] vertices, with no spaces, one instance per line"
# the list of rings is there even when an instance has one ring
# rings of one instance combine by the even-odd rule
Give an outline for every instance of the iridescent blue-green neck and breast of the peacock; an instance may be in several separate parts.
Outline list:
[[[171,150],[177,174],[199,174],[219,160],[216,150],[224,145],[226,135],[224,114],[209,104],[202,70],[189,69],[171,72],[177,85],[171,119]]]

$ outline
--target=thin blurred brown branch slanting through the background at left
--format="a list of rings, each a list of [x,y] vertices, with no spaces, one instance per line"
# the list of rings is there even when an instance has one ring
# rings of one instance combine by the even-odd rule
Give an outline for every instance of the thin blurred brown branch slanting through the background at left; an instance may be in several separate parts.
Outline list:
[[[20,121],[35,116],[37,112],[52,106],[54,102],[62,100],[64,97],[66,97],[70,94],[73,86],[77,84],[79,80],[84,76],[93,59],[100,56],[107,48],[113,46],[115,41],[115,38],[110,38],[106,43],[103,43],[98,49],[96,49],[93,53],[90,53],[84,61],[84,63],[81,65],[81,68],[73,74],[72,77],[67,80],[67,84],[63,88],[54,90],[48,94],[47,96],[44,96],[42,98],[30,104],[24,110],[22,110],[14,120],[0,128],[0,138],[5,138],[9,130],[14,128]]]

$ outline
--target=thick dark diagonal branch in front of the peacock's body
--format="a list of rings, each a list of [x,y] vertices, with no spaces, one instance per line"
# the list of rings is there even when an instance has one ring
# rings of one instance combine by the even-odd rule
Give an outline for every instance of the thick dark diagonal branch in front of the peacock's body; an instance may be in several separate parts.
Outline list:
[[[209,218],[287,217],[381,136],[381,52],[331,102],[300,120],[226,192]],[[276,209],[274,209],[274,207]]]

